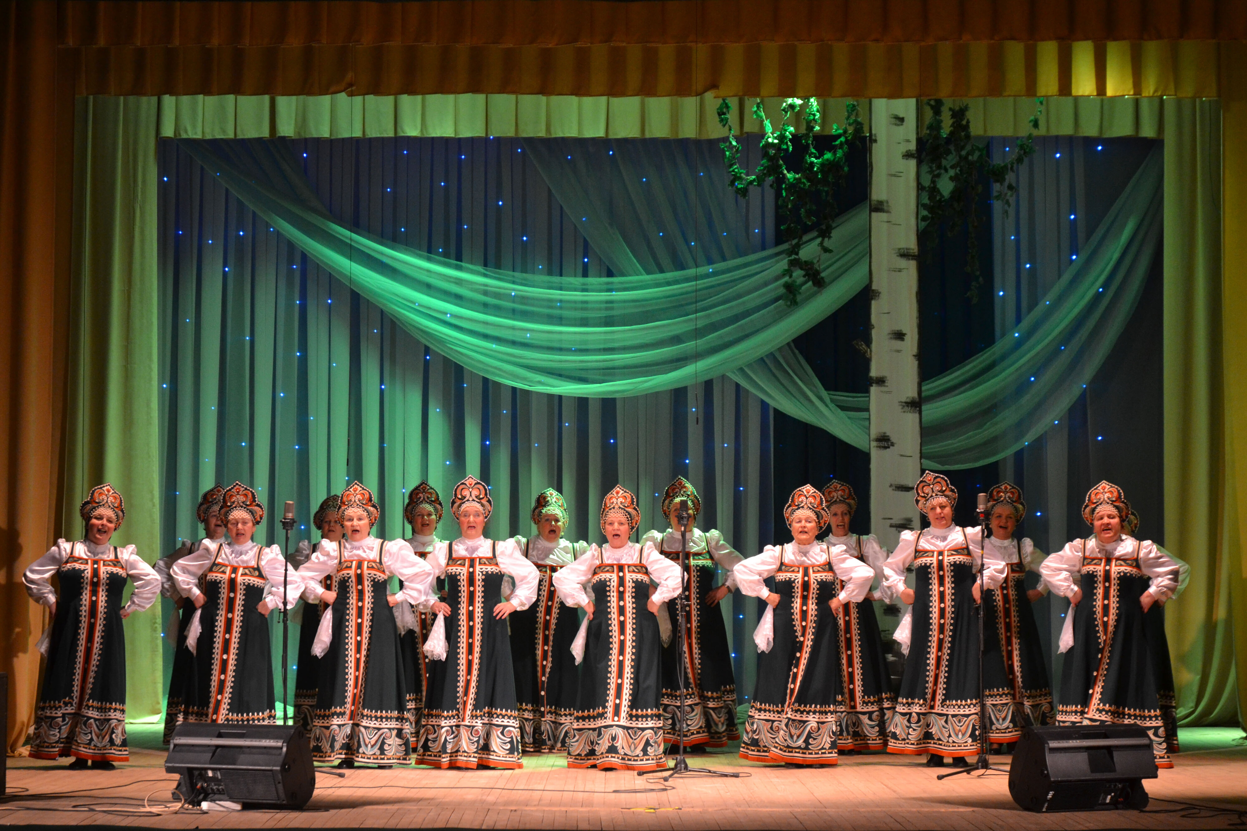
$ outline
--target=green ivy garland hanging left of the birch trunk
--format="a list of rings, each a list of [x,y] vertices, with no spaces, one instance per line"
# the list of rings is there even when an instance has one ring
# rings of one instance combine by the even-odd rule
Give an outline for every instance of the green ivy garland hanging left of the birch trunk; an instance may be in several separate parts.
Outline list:
[[[797,114],[804,109],[802,120],[804,131],[799,135],[789,119],[796,122]],[[826,284],[821,267],[822,255],[831,253],[828,241],[832,237],[832,223],[835,220],[835,201],[832,198],[837,187],[843,186],[848,175],[849,142],[865,135],[862,119],[858,117],[855,101],[849,101],[844,109],[844,126],[832,125],[832,148],[819,153],[814,150],[814,134],[822,126],[823,116],[816,99],[784,99],[779,107],[782,117],[779,129],[772,130],[771,120],[762,109],[762,99],[753,105],[753,117],[762,122],[762,158],[757,172],[749,175],[741,167],[741,143],[736,140],[729,115],[732,105],[725,99],[718,105],[718,122],[727,127],[727,138],[722,142],[723,161],[731,177],[732,190],[742,198],[749,196],[749,188],[762,187],[768,181],[776,192],[776,206],[783,223],[779,231],[788,243],[788,263],[783,271],[784,299],[788,306],[796,306],[798,292],[804,282],[816,288]],[[802,145],[801,168],[788,170],[784,156],[793,150],[793,137]],[[807,260],[801,256],[802,238],[806,228],[818,233],[818,258]]]

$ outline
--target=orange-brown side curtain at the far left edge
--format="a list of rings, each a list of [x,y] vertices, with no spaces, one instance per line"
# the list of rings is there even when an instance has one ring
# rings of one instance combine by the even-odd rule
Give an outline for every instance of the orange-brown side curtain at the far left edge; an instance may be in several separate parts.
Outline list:
[[[74,153],[74,90],[57,89],[55,4],[5,4],[0,44],[0,671],[9,673],[12,752],[35,709],[35,640],[46,620],[21,573],[64,533],[57,505],[69,260],[57,242],[67,242],[70,228],[72,168],[65,162]]]

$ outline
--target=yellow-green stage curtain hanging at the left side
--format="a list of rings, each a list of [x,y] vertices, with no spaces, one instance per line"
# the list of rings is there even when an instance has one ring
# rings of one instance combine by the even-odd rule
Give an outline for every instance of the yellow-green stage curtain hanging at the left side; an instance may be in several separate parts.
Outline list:
[[[126,499],[117,544],[153,563],[160,550],[163,425],[157,407],[155,99],[79,99],[65,429],[66,537],[77,505],[111,482]],[[126,620],[126,716],[161,711],[160,604]]]

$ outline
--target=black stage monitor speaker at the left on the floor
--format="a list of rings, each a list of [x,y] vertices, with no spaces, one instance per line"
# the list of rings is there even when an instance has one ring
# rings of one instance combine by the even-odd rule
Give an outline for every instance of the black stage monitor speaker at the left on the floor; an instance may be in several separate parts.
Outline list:
[[[315,790],[312,746],[297,726],[178,725],[165,772],[181,777],[177,790],[188,805],[301,809]]]

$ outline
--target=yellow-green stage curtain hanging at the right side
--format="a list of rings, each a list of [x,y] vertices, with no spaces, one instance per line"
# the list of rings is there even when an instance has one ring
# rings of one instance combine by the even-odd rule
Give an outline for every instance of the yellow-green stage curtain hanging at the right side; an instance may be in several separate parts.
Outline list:
[[[1225,556],[1221,391],[1221,106],[1165,101],[1165,539],[1191,565],[1165,624],[1183,724],[1237,720]],[[1175,394],[1170,394],[1175,393]]]

